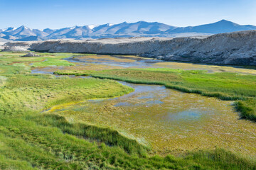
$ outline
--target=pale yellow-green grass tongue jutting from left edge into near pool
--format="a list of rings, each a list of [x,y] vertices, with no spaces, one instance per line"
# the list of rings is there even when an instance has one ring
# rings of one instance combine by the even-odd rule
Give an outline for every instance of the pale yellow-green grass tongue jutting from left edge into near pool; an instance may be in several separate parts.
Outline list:
[[[55,78],[50,74],[17,74],[8,77],[0,89],[0,113],[14,115],[24,109],[41,111],[61,103],[88,98],[111,98],[132,91],[115,81]]]

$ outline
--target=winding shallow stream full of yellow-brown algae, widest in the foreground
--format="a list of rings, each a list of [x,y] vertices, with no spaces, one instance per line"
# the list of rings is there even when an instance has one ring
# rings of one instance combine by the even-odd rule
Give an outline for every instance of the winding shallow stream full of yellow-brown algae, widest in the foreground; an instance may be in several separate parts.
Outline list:
[[[156,64],[142,60],[139,62],[146,63],[145,67]],[[100,63],[90,61],[84,60],[89,64],[105,64],[106,59]],[[113,62],[122,67],[122,61]],[[34,69],[32,73],[49,74],[50,69]],[[256,123],[240,120],[233,101],[187,94],[164,86],[119,82],[135,91],[118,98],[57,106],[48,112],[65,115],[70,121],[112,127],[163,154],[215,147],[256,154]]]

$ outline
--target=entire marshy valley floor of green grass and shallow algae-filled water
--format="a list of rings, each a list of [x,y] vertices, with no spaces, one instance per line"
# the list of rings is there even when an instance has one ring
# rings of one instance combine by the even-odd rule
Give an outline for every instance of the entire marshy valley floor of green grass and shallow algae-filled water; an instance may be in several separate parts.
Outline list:
[[[0,52],[0,169],[256,169],[255,69],[24,54]]]

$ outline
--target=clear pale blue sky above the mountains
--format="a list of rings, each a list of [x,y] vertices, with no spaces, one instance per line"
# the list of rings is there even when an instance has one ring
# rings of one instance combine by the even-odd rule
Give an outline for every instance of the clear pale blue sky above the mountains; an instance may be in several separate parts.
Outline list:
[[[196,26],[221,19],[256,26],[256,0],[0,0],[0,28],[64,28],[124,21]]]

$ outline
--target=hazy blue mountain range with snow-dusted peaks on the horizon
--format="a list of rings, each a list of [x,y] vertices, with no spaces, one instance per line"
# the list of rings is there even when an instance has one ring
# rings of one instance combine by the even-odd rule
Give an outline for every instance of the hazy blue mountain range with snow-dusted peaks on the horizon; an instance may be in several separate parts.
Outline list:
[[[185,37],[193,35],[213,35],[216,33],[230,33],[240,30],[256,30],[256,26],[242,26],[231,21],[221,20],[216,23],[201,26],[175,27],[164,23],[107,23],[100,26],[74,26],[44,30],[31,29],[26,26],[19,28],[0,29],[0,40],[30,41],[50,39],[87,39],[87,38],[117,38],[117,37]]]

